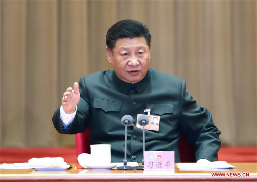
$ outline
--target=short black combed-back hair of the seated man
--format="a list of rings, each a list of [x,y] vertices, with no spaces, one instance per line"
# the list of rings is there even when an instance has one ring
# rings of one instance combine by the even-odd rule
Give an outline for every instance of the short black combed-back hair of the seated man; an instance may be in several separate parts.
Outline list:
[[[106,34],[106,45],[113,51],[116,41],[120,38],[144,37],[150,47],[151,33],[141,22],[135,20],[121,20],[111,26]]]

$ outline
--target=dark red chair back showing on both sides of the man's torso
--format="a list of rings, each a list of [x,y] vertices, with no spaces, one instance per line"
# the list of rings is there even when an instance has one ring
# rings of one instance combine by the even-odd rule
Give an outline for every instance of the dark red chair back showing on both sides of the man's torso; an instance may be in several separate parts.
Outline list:
[[[77,133],[75,135],[76,140],[76,154],[77,156],[82,153],[90,154],[89,141],[89,130],[88,128],[83,133]],[[181,162],[195,162],[195,152],[191,145],[189,145],[183,132],[180,132],[180,139],[178,141],[178,149]]]

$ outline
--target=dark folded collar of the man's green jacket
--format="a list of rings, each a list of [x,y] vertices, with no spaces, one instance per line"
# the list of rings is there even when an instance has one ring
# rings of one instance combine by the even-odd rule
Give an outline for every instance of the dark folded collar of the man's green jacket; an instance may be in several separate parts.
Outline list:
[[[130,88],[132,87],[132,84],[124,82],[121,79],[119,79],[114,71],[112,73],[112,80],[113,80],[115,86],[122,93],[128,94],[128,92],[130,92]],[[151,74],[150,74],[150,71],[148,69],[148,71],[147,71],[146,75],[144,76],[144,78],[141,81],[137,82],[137,83],[133,83],[133,87],[136,89],[136,91],[138,93],[141,93],[144,90],[144,88],[149,84],[150,81],[151,81]]]

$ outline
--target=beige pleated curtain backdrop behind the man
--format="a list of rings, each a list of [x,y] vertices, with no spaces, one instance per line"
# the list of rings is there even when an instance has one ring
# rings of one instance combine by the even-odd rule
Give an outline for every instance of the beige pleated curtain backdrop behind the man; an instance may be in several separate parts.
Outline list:
[[[0,1],[1,147],[75,145],[52,124],[63,92],[111,68],[108,28],[152,33],[151,67],[187,82],[226,145],[257,144],[256,1]]]

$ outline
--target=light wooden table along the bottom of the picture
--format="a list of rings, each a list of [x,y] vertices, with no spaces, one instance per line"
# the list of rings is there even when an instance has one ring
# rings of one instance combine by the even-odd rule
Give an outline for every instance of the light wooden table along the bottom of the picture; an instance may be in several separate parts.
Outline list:
[[[145,174],[143,170],[91,171],[72,164],[64,171],[0,170],[0,181],[257,181],[257,163],[231,163],[235,169],[216,171],[180,171],[174,174]],[[223,177],[212,177],[223,174]],[[236,177],[237,175],[237,177]],[[241,177],[238,177],[241,175]],[[244,176],[244,177],[243,177]]]

